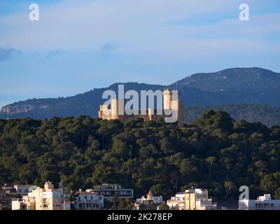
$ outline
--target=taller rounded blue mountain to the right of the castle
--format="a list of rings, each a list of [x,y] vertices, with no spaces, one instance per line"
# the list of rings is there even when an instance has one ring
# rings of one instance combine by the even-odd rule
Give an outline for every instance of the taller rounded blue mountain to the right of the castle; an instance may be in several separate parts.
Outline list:
[[[280,106],[280,73],[261,68],[196,73],[172,84],[188,106],[269,104]]]

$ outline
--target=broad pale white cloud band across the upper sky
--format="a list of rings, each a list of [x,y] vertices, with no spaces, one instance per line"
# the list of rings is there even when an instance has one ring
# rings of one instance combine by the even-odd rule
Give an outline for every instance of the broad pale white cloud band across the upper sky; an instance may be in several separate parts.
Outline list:
[[[41,8],[40,21],[28,14],[0,19],[0,43],[28,50],[99,51],[116,43],[116,54],[158,54],[168,59],[190,59],[223,52],[279,52],[265,35],[279,34],[280,15],[252,15],[238,20],[237,1],[183,0],[67,0]],[[236,11],[236,18],[206,25],[168,25],[170,21],[201,20],[207,15]]]

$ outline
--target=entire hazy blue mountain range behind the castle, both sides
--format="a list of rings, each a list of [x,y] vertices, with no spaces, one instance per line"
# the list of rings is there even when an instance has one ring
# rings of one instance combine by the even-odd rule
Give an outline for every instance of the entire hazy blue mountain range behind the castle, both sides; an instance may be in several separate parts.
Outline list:
[[[187,106],[219,104],[269,104],[280,107],[280,73],[267,69],[235,68],[196,73],[170,85],[178,88]],[[162,90],[163,85],[125,83],[125,90]],[[97,117],[104,90],[118,90],[118,83],[73,97],[28,99],[3,106],[0,118],[51,118],[88,115]],[[255,120],[254,120],[255,121]],[[257,120],[258,121],[258,120]]]

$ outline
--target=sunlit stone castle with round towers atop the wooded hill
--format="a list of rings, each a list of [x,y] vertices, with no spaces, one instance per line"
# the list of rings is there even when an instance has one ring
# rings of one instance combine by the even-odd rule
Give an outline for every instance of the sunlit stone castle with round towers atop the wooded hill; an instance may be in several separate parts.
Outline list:
[[[163,109],[164,110],[172,110],[178,113],[178,125],[179,127],[183,127],[183,102],[179,100],[178,95],[174,94],[174,91],[165,89],[162,92],[163,96]],[[153,120],[156,121],[160,118],[166,118],[167,116],[163,114],[157,114],[157,110],[152,109],[146,109],[146,114],[141,114],[141,110],[139,110],[139,113],[137,115],[120,115],[118,106],[119,99],[111,99],[111,104],[102,104],[99,107],[98,116],[99,118],[106,119],[106,120],[112,120],[112,119],[118,119],[121,122],[124,122],[127,119],[130,118],[143,118],[144,121]],[[143,111],[142,111],[143,112]]]

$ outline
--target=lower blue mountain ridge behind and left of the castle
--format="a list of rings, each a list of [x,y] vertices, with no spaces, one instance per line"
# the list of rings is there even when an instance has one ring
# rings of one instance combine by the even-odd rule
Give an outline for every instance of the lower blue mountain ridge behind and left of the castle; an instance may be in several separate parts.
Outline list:
[[[52,118],[53,116],[98,116],[99,105],[106,101],[102,99],[105,90],[114,90],[118,93],[118,84],[106,88],[90,90],[73,97],[60,97],[57,99],[28,99],[3,106],[0,118]],[[162,90],[162,85],[148,85],[144,83],[123,83],[125,91],[136,90]]]

